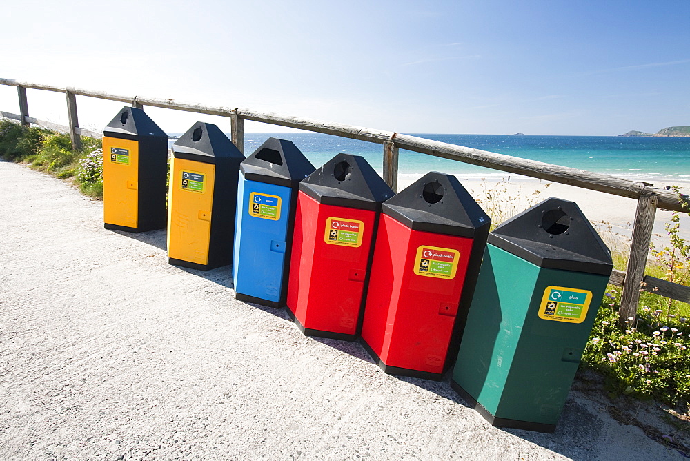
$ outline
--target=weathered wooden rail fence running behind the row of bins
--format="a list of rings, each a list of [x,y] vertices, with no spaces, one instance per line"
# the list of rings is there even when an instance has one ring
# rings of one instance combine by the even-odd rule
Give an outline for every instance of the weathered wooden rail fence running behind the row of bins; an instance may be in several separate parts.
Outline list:
[[[16,86],[17,95],[19,97],[19,114],[0,111],[0,117],[18,120],[24,126],[34,124],[62,133],[69,133],[72,139],[72,146],[75,148],[81,147],[81,136],[98,139],[102,137],[102,133],[79,127],[79,119],[77,117],[77,95],[79,95],[108,99],[110,101],[120,101],[137,108],[152,106],[184,110],[186,112],[197,112],[199,114],[230,117],[233,143],[235,143],[235,146],[243,153],[244,120],[259,121],[264,124],[299,128],[301,130],[314,131],[316,133],[325,133],[327,135],[382,144],[384,153],[383,176],[386,183],[391,186],[393,190],[397,190],[398,150],[402,148],[433,155],[435,157],[443,157],[462,161],[467,164],[505,171],[506,173],[546,179],[551,182],[559,182],[585,189],[598,190],[599,192],[607,194],[629,197],[637,200],[638,206],[633,222],[633,234],[627,268],[625,272],[613,271],[611,279],[609,280],[613,285],[622,286],[620,318],[624,320],[627,317],[636,316],[640,291],[642,290],[650,291],[664,297],[670,297],[674,300],[690,302],[689,287],[644,275],[644,268],[647,265],[647,256],[649,254],[652,226],[657,208],[680,212],[688,211],[679,201],[676,193],[653,188],[651,184],[629,181],[628,179],[620,179],[599,173],[592,173],[586,170],[578,170],[577,168],[546,164],[541,161],[520,159],[509,155],[488,152],[486,150],[431,141],[429,139],[404,135],[402,133],[328,123],[314,119],[289,117],[277,115],[275,113],[255,112],[244,108],[202,106],[201,104],[181,103],[173,99],[110,95],[106,92],[32,84],[24,81],[14,81],[12,79],[0,79],[0,84]],[[28,100],[26,97],[27,89],[61,92],[66,95],[69,125],[63,126],[54,124],[50,121],[30,117]]]

